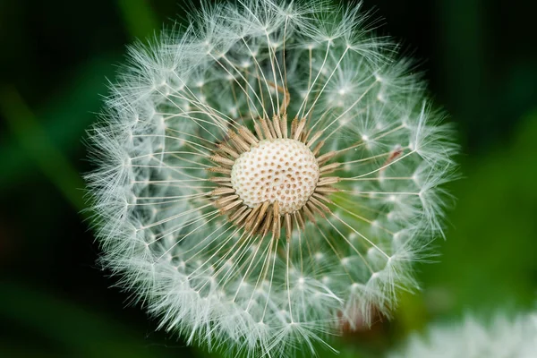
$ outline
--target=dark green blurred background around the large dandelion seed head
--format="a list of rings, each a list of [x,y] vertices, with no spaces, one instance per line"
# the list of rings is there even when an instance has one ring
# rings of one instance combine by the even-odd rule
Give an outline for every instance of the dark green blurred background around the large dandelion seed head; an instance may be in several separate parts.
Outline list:
[[[430,321],[535,306],[535,6],[503,0],[364,0],[379,31],[422,59],[456,124],[464,179],[452,183],[441,256],[394,320],[345,333],[341,357],[377,357]],[[197,6],[196,2],[193,6]],[[0,356],[217,356],[155,332],[95,263],[83,144],[124,47],[182,18],[175,0],[0,1]],[[321,356],[332,357],[327,351]]]

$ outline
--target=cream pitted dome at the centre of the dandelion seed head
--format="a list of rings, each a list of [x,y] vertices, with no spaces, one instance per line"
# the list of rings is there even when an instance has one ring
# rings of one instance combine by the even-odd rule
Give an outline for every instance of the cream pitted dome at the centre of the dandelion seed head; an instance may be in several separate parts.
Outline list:
[[[315,191],[319,165],[301,141],[260,141],[234,162],[231,183],[250,208],[265,201],[279,202],[282,214],[301,209]]]

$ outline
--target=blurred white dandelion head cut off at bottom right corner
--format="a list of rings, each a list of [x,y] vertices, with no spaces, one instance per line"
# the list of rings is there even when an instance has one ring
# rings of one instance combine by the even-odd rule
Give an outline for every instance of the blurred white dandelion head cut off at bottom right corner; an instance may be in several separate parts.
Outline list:
[[[487,323],[467,315],[461,322],[436,324],[388,357],[533,358],[536,353],[537,314],[529,312],[514,318],[498,313]]]

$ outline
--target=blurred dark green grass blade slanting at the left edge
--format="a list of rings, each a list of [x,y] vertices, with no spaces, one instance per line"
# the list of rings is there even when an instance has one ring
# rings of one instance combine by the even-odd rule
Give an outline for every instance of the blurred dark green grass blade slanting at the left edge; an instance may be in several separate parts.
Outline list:
[[[81,176],[48,138],[47,132],[41,128],[17,90],[12,87],[0,90],[0,112],[4,115],[11,132],[21,142],[22,148],[28,152],[41,171],[74,208],[83,209],[81,188],[85,185]]]

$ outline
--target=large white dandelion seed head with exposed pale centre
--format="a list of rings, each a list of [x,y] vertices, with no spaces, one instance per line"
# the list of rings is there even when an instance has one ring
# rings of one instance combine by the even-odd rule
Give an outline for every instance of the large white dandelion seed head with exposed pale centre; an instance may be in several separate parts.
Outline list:
[[[456,152],[359,6],[202,4],[90,132],[105,267],[189,344],[287,356],[388,314],[441,234]]]

